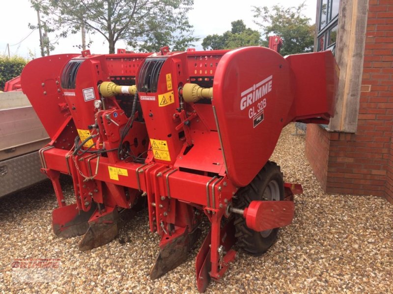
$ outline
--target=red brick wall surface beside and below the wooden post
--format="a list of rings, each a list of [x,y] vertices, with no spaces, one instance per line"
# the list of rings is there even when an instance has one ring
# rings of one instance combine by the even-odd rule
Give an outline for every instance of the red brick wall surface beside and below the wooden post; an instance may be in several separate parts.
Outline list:
[[[393,203],[393,0],[369,0],[363,66],[356,134],[313,125],[306,155],[327,192]]]

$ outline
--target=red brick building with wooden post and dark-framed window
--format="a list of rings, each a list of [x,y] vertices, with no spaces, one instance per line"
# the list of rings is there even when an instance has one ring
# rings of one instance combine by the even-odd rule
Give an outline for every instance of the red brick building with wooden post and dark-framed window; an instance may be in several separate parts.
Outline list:
[[[328,193],[393,203],[393,0],[318,0],[316,27],[340,81],[335,117],[307,128],[310,165]]]

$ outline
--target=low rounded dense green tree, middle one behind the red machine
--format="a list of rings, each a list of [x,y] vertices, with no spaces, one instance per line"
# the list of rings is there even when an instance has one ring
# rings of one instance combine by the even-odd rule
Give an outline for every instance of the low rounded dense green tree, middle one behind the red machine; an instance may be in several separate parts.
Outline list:
[[[243,46],[258,46],[261,44],[261,34],[246,27],[242,20],[231,23],[232,29],[222,35],[208,35],[203,39],[204,50],[235,49]]]

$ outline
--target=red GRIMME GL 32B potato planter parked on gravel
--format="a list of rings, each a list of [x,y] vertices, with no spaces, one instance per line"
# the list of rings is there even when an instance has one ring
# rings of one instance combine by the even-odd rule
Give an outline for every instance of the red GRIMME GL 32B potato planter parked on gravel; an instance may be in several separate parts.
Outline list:
[[[121,214],[144,201],[161,236],[150,275],[197,254],[197,289],[223,277],[235,242],[258,255],[291,223],[297,184],[269,158],[290,122],[334,111],[338,68],[330,51],[283,58],[235,50],[62,54],[35,59],[22,88],[52,141],[39,152],[58,208],[57,236],[84,235],[88,250],[116,237]],[[59,174],[72,176],[75,203]]]

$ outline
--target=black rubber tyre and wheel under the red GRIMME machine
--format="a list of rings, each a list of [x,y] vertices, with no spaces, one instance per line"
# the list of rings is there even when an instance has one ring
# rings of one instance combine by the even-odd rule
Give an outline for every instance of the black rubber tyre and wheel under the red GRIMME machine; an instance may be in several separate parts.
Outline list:
[[[253,181],[237,193],[234,206],[240,209],[248,207],[253,200],[283,200],[284,181],[280,167],[268,161],[258,172]],[[272,246],[277,239],[279,228],[256,232],[246,225],[243,216],[235,215],[237,244],[252,255],[261,255]]]

